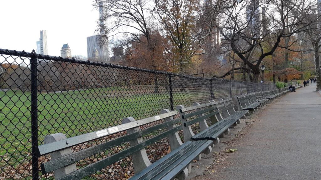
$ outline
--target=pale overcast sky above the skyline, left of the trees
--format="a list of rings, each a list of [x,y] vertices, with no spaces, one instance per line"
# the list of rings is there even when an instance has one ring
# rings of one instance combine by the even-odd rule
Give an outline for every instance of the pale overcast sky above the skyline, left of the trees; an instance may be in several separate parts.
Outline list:
[[[31,52],[47,30],[48,55],[59,56],[68,43],[73,56],[87,56],[86,37],[95,34],[99,18],[92,0],[0,1],[0,48]]]

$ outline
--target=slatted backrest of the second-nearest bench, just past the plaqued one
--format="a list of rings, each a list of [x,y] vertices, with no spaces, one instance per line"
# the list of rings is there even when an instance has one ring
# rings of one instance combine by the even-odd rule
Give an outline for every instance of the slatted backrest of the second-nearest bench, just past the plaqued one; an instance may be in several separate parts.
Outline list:
[[[205,104],[195,102],[191,107],[184,107],[183,105],[176,107],[182,120],[185,142],[189,141],[198,131],[203,131],[209,127],[206,119],[210,119],[212,125],[223,119],[216,104],[217,102],[207,101]],[[199,127],[197,124],[199,124]]]

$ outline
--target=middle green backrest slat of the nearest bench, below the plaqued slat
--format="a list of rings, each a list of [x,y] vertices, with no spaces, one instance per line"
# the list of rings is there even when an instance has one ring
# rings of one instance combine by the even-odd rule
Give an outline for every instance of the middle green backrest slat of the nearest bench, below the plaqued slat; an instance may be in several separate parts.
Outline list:
[[[45,173],[54,171],[56,169],[65,167],[69,164],[75,163],[79,160],[85,159],[85,158],[95,155],[99,152],[107,151],[108,149],[115,147],[119,144],[128,142],[133,139],[137,139],[137,138],[139,138],[143,135],[146,135],[152,131],[167,127],[169,125],[176,124],[178,122],[180,122],[179,118],[172,119],[172,120],[157,124],[155,126],[148,127],[146,129],[143,129],[143,130],[140,130],[140,131],[128,134],[128,135],[124,135],[124,136],[119,137],[117,139],[92,146],[92,147],[84,149],[82,151],[74,152],[72,154],[63,156],[63,157],[55,159],[55,160],[50,160],[49,162],[41,164],[42,173],[45,174]]]

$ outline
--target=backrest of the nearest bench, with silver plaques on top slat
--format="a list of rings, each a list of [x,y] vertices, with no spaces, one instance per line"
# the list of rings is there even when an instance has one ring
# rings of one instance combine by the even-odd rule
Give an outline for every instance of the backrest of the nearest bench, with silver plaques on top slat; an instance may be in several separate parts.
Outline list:
[[[182,129],[179,125],[181,121],[179,118],[174,119],[176,115],[178,115],[177,111],[162,110],[157,116],[137,121],[132,117],[125,118],[121,125],[70,138],[66,138],[62,133],[47,135],[45,144],[38,146],[39,156],[48,153],[51,155],[50,161],[41,164],[42,173],[54,171],[55,179],[61,180],[82,179],[130,155],[132,155],[134,171],[139,173],[151,164],[145,147],[166,137],[169,139],[171,150],[182,144],[178,136],[178,131]],[[94,140],[102,141],[97,145],[79,148],[79,151],[72,152],[71,147]],[[99,156],[101,152],[106,151],[114,154],[108,153],[105,158],[76,169],[77,162],[88,157]]]

